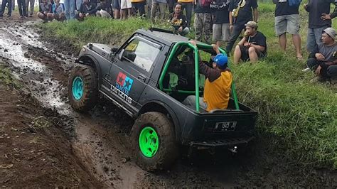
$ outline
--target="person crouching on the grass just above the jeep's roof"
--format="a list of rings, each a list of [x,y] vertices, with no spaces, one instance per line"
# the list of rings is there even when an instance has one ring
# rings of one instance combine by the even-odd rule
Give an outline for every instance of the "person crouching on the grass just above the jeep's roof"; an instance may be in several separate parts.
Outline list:
[[[181,36],[186,36],[190,32],[187,27],[186,16],[181,12],[181,4],[177,3],[174,6],[174,13],[169,16],[169,22],[173,27],[173,33],[179,33]]]

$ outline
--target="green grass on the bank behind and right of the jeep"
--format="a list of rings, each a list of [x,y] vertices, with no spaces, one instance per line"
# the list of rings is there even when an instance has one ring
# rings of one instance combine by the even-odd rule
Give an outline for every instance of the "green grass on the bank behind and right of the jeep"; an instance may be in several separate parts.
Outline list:
[[[301,71],[306,63],[296,60],[291,36],[288,35],[287,53],[280,52],[274,35],[274,4],[259,3],[259,13],[259,30],[267,37],[268,56],[255,65],[232,66],[240,102],[257,109],[258,135],[275,151],[302,165],[336,169],[337,90],[311,82],[314,74]],[[302,7],[300,19],[301,46],[306,57],[308,13]],[[336,21],[333,26],[337,26]],[[138,28],[149,26],[149,21],[137,18],[128,21],[89,18],[82,23],[53,22],[41,27],[45,33],[80,48],[88,42],[121,45]],[[167,23],[159,26],[168,27]]]

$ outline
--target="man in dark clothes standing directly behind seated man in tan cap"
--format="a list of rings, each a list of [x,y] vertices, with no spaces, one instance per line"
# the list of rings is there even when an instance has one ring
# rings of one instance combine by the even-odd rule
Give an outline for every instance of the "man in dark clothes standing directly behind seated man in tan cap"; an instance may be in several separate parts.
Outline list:
[[[242,29],[245,28],[245,23],[248,21],[257,22],[257,0],[230,0],[229,11],[231,34],[226,47],[228,53],[232,50]]]

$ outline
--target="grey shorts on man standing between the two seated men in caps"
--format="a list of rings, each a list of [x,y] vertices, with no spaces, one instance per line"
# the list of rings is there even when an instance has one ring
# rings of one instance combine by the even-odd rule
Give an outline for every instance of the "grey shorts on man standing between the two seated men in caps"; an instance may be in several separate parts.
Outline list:
[[[299,14],[276,16],[275,31],[277,36],[281,36],[286,32],[292,35],[299,35]]]

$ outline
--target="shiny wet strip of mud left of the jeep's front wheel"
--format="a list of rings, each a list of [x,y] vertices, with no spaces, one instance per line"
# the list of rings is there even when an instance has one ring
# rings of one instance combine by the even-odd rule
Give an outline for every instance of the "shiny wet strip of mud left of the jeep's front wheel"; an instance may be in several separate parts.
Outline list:
[[[46,48],[38,41],[38,35],[9,26],[0,28],[0,36],[0,56],[11,60],[14,75],[31,87],[33,97],[46,107],[55,107],[61,114],[68,114],[68,105],[58,94],[59,82],[52,79],[52,73],[45,65],[25,53],[28,48]]]

